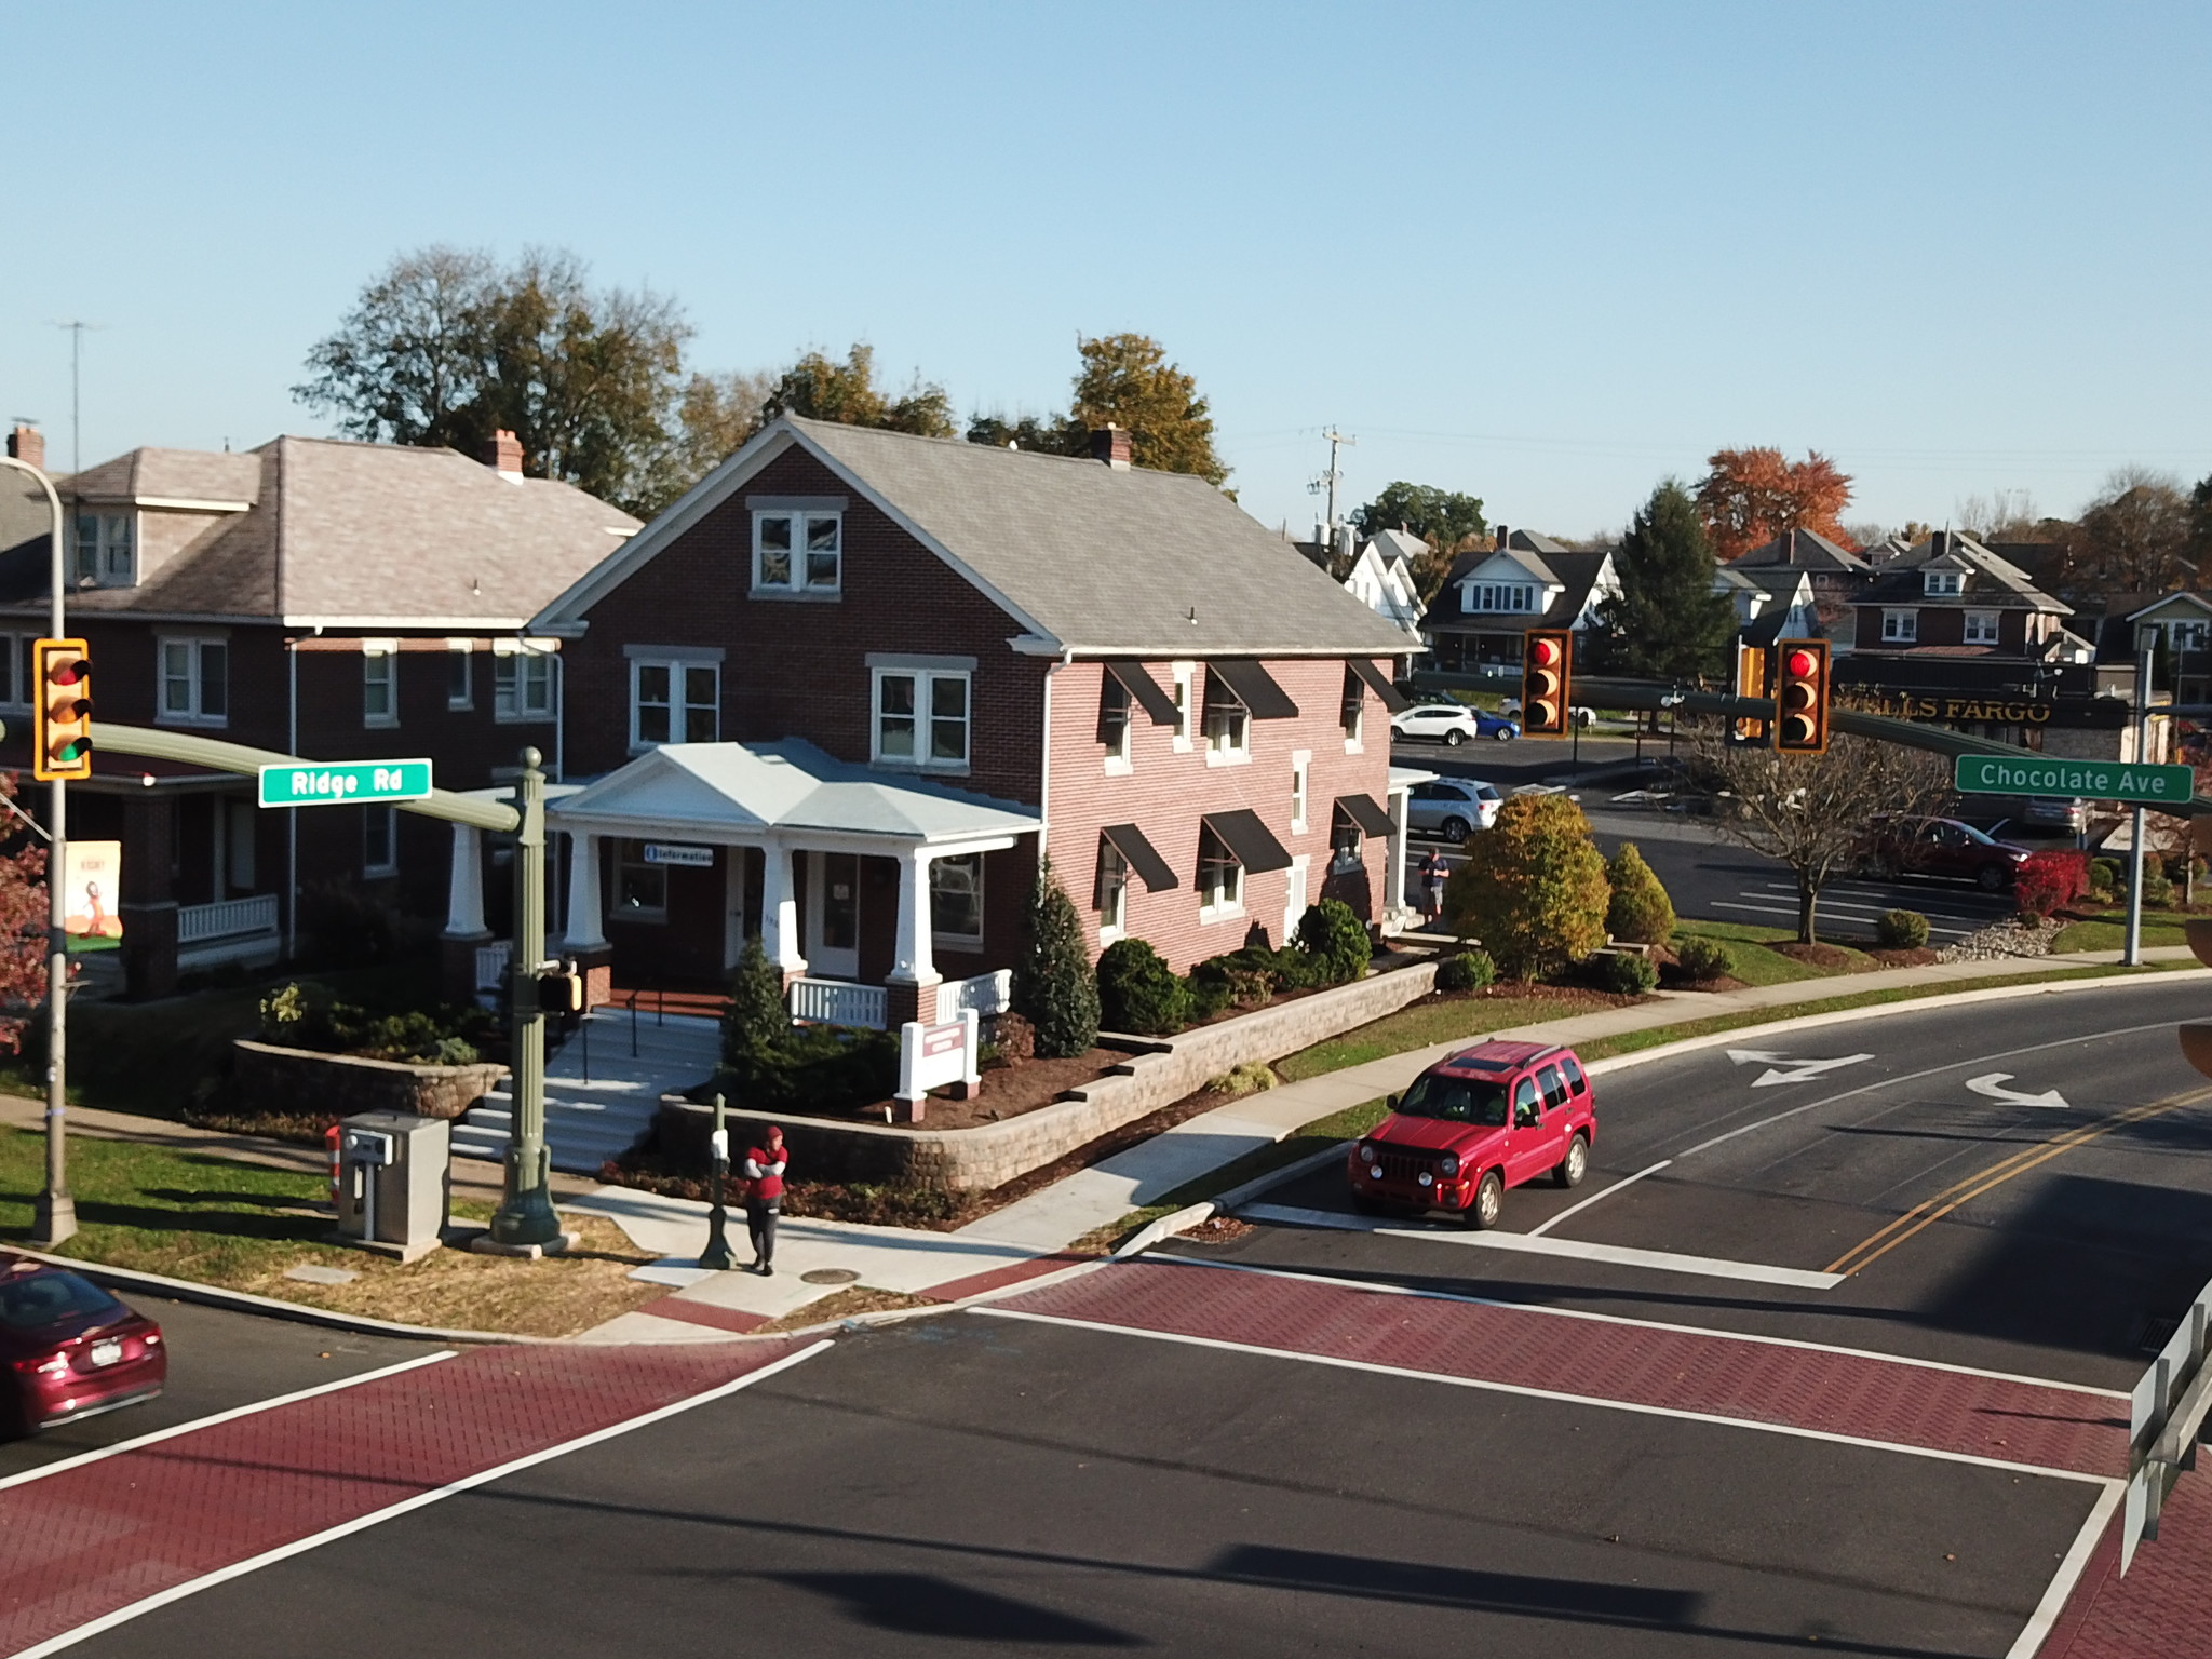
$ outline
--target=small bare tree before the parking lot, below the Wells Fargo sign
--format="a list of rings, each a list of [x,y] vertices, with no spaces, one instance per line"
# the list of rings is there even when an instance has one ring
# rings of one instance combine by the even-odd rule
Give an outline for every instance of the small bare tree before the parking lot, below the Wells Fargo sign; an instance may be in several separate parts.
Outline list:
[[[1714,781],[1712,823],[1739,847],[1790,867],[1798,889],[1798,942],[1814,945],[1820,889],[1851,872],[1887,814],[1933,812],[1951,792],[1940,754],[1834,737],[1825,754],[1776,754],[1699,737],[1697,759]]]

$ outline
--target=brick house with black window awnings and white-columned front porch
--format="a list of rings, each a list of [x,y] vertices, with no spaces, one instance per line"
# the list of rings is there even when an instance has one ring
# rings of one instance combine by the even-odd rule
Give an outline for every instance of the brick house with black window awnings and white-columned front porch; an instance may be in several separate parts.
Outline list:
[[[597,774],[549,812],[566,949],[624,984],[719,984],[759,936],[814,1018],[989,1002],[1040,852],[1093,951],[1177,969],[1323,896],[1394,920],[1418,646],[1128,434],[1068,458],[787,416],[529,626]]]

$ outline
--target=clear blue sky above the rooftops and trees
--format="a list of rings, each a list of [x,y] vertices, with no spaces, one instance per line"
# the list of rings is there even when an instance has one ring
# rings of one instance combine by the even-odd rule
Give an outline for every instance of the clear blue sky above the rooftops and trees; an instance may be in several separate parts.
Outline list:
[[[69,465],[321,431],[394,252],[571,248],[701,367],[869,341],[1064,407],[1161,338],[1310,524],[1619,526],[1721,445],[1847,518],[2212,473],[2203,4],[49,4],[0,13],[0,416]]]

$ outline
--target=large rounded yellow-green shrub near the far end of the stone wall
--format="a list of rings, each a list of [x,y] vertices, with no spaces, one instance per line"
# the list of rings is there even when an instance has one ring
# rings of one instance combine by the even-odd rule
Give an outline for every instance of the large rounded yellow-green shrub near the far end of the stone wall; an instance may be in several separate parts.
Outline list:
[[[1606,942],[1606,860],[1564,794],[1515,794],[1471,836],[1444,887],[1444,922],[1515,980],[1557,973]]]

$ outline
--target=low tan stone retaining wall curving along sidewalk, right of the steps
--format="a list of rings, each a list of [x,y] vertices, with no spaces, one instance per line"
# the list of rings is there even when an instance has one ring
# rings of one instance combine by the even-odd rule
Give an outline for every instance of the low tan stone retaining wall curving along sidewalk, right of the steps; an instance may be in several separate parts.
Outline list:
[[[730,1108],[732,1159],[750,1144],[745,1139],[750,1130],[776,1121],[783,1124],[783,1139],[792,1148],[792,1179],[987,1192],[1197,1093],[1210,1077],[1232,1066],[1312,1048],[1316,1042],[1396,1013],[1431,989],[1436,989],[1436,964],[1418,962],[1219,1020],[1177,1037],[1128,1037],[1128,1046],[1137,1053],[1110,1075],[1068,1091],[1051,1106],[975,1128],[823,1124]],[[708,1106],[661,1095],[657,1119],[661,1150],[679,1168],[706,1172],[712,1117]]]

